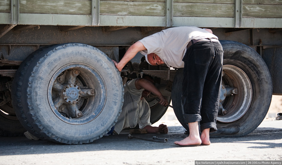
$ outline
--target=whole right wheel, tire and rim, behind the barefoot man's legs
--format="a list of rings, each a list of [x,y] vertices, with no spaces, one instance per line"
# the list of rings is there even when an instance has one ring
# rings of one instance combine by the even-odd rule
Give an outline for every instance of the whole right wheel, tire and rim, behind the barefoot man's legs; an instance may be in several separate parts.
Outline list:
[[[238,91],[223,96],[221,90],[221,103],[227,114],[217,115],[217,131],[211,137],[241,137],[256,129],[267,114],[272,80],[265,62],[252,48],[235,41],[220,42],[224,51],[221,86]],[[179,69],[174,78],[172,101],[176,117],[189,130],[182,115],[182,80],[183,69]]]

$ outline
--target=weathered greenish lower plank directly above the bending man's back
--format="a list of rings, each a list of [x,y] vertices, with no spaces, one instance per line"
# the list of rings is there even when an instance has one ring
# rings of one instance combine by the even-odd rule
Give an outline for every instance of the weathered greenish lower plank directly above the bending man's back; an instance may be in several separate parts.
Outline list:
[[[234,4],[174,3],[176,17],[234,17]]]

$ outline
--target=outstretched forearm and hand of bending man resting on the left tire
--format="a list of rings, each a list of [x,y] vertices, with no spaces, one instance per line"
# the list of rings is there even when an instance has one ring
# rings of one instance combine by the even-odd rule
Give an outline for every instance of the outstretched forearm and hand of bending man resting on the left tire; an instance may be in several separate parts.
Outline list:
[[[116,68],[121,72],[123,67],[129,62],[139,51],[144,51],[147,50],[143,43],[137,41],[131,47],[128,48],[128,50],[125,52],[123,58],[120,60],[119,63],[116,61],[112,60],[115,63]]]

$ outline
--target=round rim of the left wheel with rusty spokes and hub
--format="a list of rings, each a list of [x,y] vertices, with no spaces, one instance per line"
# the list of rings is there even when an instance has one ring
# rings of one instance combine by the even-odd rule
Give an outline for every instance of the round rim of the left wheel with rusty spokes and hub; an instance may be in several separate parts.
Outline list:
[[[94,120],[103,110],[106,95],[102,76],[83,63],[61,67],[48,86],[52,111],[62,121],[73,125]]]

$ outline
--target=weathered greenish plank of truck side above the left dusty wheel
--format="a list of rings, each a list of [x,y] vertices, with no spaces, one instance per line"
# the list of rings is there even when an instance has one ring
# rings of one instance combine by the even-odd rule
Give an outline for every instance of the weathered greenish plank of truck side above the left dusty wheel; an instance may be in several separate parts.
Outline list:
[[[91,0],[20,0],[20,13],[91,14]]]

